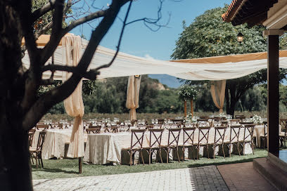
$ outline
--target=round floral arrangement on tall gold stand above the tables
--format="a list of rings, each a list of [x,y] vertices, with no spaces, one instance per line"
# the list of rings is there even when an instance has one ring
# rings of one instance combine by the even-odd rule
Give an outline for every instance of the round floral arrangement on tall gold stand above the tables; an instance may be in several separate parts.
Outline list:
[[[186,117],[186,101],[191,100],[191,115],[193,116],[193,100],[197,98],[196,88],[189,85],[181,86],[180,91],[178,92],[179,99],[184,101],[184,117]]]

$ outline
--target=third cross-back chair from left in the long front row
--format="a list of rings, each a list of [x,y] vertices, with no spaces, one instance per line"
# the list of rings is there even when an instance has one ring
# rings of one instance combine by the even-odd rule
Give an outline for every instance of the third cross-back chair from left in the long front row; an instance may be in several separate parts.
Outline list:
[[[169,159],[170,150],[176,149],[177,150],[177,159],[179,159],[179,136],[180,136],[181,129],[180,128],[173,128],[168,129],[168,139],[167,139],[167,147],[165,150],[167,152],[167,163]]]

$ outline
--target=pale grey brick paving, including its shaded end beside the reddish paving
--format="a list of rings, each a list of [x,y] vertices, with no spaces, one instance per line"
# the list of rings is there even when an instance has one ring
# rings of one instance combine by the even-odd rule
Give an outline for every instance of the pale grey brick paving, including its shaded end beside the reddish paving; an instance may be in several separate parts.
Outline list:
[[[229,190],[216,166],[33,180],[34,190]]]

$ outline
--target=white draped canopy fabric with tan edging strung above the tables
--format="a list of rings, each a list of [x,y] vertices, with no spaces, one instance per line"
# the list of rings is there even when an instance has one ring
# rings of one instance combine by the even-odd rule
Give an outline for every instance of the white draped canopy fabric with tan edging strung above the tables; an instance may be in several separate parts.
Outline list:
[[[82,51],[89,41],[82,39]],[[62,65],[62,48],[58,46],[54,53],[55,64]],[[91,60],[89,69],[110,62],[115,51],[98,46]],[[287,68],[287,51],[279,52],[281,68]],[[29,56],[23,58],[25,67],[30,67]],[[51,59],[46,63],[51,62]],[[258,70],[267,68],[267,53],[248,53],[243,55],[224,55],[209,58],[196,58],[185,60],[162,61],[141,58],[126,53],[118,53],[117,58],[108,68],[100,70],[97,79],[109,77],[127,77],[136,74],[169,74],[174,77],[189,80],[223,80],[244,77]],[[43,78],[47,79],[51,72],[44,72]],[[54,79],[62,80],[62,72],[56,71]]]

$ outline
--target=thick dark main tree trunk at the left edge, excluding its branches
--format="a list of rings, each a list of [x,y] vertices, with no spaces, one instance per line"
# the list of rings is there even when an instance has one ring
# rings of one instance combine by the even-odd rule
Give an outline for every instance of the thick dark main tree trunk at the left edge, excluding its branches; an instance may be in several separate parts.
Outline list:
[[[20,15],[6,3],[0,1],[0,190],[33,190],[20,107],[25,92],[20,70]]]

